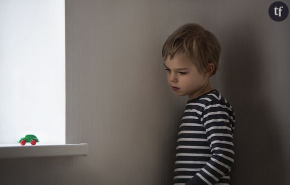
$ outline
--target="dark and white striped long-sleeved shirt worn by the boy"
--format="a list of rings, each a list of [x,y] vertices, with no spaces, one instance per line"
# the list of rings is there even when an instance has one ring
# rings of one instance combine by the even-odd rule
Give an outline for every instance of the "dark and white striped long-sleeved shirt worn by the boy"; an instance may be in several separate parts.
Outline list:
[[[188,100],[177,135],[174,185],[229,185],[234,112],[213,89]]]

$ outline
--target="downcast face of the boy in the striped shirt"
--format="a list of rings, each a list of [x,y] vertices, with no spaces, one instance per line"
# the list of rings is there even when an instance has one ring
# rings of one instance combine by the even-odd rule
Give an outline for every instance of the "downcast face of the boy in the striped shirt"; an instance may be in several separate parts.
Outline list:
[[[191,100],[211,90],[208,73],[200,73],[195,64],[185,56],[167,57],[164,62],[168,84],[178,96],[188,95]]]

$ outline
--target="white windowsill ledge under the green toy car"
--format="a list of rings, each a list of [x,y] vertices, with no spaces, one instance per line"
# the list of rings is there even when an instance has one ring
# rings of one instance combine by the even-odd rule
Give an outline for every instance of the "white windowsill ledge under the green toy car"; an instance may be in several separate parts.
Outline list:
[[[0,144],[0,159],[86,155],[86,143],[64,145],[45,145],[37,143],[34,146],[29,145],[29,143],[24,146],[20,144]]]

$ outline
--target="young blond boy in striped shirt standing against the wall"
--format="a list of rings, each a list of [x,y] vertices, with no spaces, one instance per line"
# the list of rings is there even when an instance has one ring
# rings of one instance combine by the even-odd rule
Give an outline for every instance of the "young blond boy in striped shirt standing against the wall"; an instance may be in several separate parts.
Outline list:
[[[209,84],[220,50],[216,37],[196,23],[179,27],[163,45],[168,84],[178,96],[188,96],[177,135],[174,185],[229,185],[234,112]]]

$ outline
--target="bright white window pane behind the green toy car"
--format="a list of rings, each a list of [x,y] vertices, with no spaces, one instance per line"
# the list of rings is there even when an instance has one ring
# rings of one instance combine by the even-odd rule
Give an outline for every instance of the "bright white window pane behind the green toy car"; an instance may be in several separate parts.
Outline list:
[[[0,22],[0,144],[65,144],[64,0],[1,0]]]

